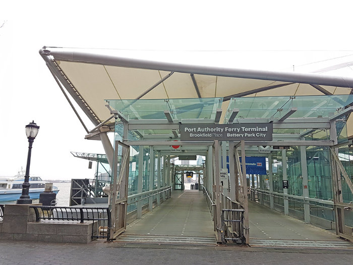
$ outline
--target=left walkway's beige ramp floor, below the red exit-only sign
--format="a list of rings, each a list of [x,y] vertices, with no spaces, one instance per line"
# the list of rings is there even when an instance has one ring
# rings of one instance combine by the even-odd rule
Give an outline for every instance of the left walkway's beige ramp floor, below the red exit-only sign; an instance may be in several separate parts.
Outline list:
[[[202,191],[173,191],[142,219],[127,226],[116,242],[216,245],[211,214]]]

